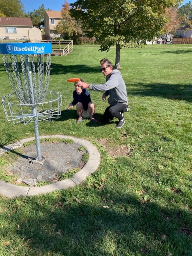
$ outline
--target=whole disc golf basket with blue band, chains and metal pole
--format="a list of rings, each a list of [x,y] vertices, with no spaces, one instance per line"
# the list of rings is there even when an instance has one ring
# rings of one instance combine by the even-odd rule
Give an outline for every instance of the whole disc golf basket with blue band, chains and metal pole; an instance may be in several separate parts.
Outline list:
[[[50,121],[61,114],[62,96],[48,92],[52,52],[49,43],[2,43],[0,53],[13,89],[2,97],[6,119],[13,124],[34,122],[37,162],[42,162],[39,121]],[[44,58],[46,62],[44,65]]]

